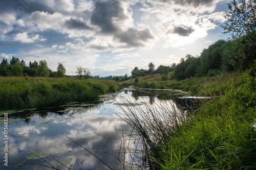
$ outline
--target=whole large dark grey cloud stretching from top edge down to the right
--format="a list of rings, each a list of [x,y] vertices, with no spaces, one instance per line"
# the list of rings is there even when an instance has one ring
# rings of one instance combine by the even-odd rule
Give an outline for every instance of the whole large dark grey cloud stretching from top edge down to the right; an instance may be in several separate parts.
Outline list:
[[[92,12],[91,23],[98,26],[101,29],[101,33],[111,34],[120,42],[126,43],[120,48],[145,46],[149,40],[154,39],[154,35],[149,28],[143,30],[130,28],[122,31],[121,26],[117,25],[116,22],[121,22],[125,19],[128,19],[128,16],[117,1],[98,1],[95,3],[95,8]],[[102,49],[101,46],[93,46],[93,48]]]

